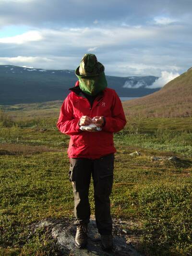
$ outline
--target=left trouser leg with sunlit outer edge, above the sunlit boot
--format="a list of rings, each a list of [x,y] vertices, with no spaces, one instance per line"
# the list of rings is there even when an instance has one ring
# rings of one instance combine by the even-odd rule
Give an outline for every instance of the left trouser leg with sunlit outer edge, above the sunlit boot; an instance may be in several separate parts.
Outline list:
[[[92,161],[87,158],[70,158],[69,178],[74,195],[74,224],[89,223],[89,185],[91,180]]]

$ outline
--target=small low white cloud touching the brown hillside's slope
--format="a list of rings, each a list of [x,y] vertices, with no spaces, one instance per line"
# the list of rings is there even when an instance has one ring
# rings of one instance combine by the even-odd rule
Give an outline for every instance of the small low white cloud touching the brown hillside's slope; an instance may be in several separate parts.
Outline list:
[[[163,87],[164,85],[166,85],[168,82],[175,79],[179,75],[180,75],[179,73],[172,73],[172,72],[162,71],[161,72],[161,77],[159,77],[153,83],[153,85],[148,85],[148,86],[146,86],[146,88],[151,88],[151,89],[153,88],[154,89],[154,88]]]

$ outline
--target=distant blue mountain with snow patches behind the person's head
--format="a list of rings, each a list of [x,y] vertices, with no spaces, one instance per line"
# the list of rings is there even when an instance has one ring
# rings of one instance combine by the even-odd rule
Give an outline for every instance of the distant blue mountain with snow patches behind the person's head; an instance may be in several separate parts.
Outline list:
[[[106,76],[106,78],[108,87],[115,89],[120,97],[142,97],[160,89],[150,89],[150,85],[153,85],[158,78],[156,76]],[[74,70],[0,65],[0,104],[63,100],[76,81]]]

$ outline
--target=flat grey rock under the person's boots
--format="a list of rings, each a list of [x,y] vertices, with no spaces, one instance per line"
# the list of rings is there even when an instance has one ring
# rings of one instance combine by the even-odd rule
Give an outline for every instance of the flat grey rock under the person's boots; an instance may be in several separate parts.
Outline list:
[[[116,224],[114,224],[114,229]],[[126,243],[125,236],[114,235],[112,251],[103,251],[100,234],[96,228],[95,219],[88,224],[88,244],[85,249],[79,249],[74,244],[76,227],[69,219],[43,219],[35,225],[35,230],[47,228],[60,250],[61,255],[72,256],[141,256],[131,244]]]

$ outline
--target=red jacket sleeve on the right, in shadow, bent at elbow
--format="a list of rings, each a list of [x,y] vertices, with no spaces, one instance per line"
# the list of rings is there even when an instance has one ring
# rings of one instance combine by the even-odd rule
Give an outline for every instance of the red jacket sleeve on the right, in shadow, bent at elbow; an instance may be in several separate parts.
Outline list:
[[[111,107],[111,117],[105,117],[103,131],[116,133],[123,129],[126,124],[126,118],[119,96],[115,92],[113,105]]]

